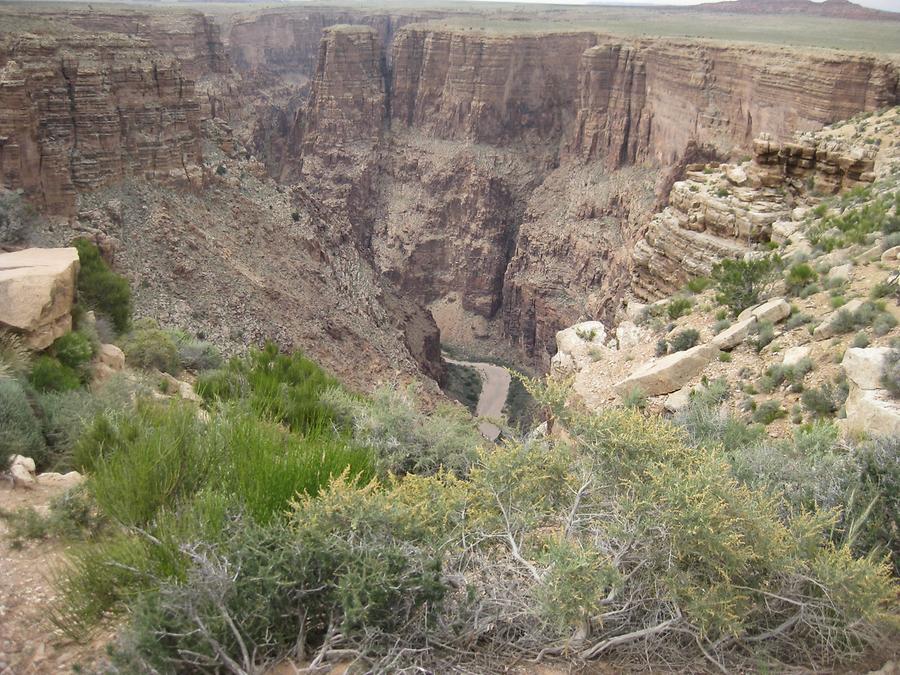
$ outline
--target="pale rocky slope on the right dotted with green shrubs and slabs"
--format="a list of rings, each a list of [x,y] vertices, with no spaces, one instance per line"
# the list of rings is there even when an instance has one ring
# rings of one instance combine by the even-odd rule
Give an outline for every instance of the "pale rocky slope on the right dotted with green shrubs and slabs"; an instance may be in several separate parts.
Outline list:
[[[554,375],[595,409],[646,395],[678,412],[718,380],[723,409],[774,436],[835,416],[856,432],[900,433],[880,379],[900,349],[898,141],[893,108],[793,142],[762,138],[742,165],[692,167],[637,250],[634,296],[656,301],[561,331]],[[721,259],[771,249],[783,272],[734,319],[715,288],[685,286]],[[674,350],[685,331],[695,339]]]

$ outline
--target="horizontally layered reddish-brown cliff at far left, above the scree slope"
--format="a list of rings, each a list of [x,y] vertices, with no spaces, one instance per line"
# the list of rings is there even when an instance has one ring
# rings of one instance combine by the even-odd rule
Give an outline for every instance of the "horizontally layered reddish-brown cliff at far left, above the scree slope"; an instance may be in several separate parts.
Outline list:
[[[190,182],[199,104],[178,61],[112,34],[0,43],[0,176],[51,212],[124,175]]]

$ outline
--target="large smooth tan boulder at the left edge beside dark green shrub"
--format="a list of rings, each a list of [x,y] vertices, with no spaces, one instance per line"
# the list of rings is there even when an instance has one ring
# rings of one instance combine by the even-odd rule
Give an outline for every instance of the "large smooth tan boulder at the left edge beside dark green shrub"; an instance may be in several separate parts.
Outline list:
[[[72,330],[77,274],[74,248],[0,253],[0,328],[22,333],[32,349],[49,347]]]

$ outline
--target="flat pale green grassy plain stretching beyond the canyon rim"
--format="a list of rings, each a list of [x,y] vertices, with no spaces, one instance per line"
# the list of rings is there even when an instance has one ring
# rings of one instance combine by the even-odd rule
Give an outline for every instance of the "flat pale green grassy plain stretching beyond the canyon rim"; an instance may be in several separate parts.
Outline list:
[[[85,9],[87,3],[75,2],[0,2],[3,9],[21,13]],[[334,2],[248,2],[248,3],[102,3],[95,10],[156,9],[173,11],[193,9],[215,15],[261,10],[321,10],[328,7],[361,13],[416,12],[434,13],[426,25],[479,30],[492,34],[591,31],[627,37],[703,38],[725,42],[756,42],[796,47],[820,47],[849,51],[896,54],[900,58],[900,22],[851,21],[821,17],[783,15],[777,17],[705,13],[673,8],[623,8],[579,5],[540,5],[484,2],[423,2],[421,0],[335,0]],[[443,12],[453,16],[438,18]],[[8,17],[11,18],[11,17]],[[10,30],[10,26],[6,26]],[[29,28],[32,28],[29,26]],[[3,26],[0,25],[0,32]]]

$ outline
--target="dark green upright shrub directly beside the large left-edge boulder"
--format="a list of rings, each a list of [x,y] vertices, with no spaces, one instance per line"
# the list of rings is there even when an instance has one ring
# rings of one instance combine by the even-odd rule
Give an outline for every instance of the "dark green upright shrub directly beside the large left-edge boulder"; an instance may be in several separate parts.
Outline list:
[[[113,272],[100,256],[100,250],[87,239],[76,239],[81,267],[78,272],[78,300],[108,316],[120,333],[131,320],[131,288],[128,280]]]

